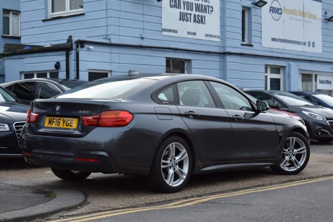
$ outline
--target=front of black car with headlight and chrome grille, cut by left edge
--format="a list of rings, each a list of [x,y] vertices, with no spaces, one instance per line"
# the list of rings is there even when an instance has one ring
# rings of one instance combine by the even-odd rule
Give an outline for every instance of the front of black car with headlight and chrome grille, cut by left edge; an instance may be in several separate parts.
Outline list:
[[[29,106],[0,87],[0,158],[21,157],[19,139]]]

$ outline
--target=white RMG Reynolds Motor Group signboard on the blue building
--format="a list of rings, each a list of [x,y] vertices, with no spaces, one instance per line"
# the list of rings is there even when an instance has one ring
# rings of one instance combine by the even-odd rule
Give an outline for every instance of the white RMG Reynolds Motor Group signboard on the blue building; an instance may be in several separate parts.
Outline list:
[[[262,7],[262,46],[322,52],[321,0],[267,0]]]

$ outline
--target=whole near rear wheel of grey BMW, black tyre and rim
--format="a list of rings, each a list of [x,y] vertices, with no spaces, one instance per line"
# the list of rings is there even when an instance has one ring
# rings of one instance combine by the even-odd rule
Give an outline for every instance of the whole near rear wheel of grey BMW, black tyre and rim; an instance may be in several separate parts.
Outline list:
[[[175,193],[188,182],[192,158],[188,144],[178,136],[167,138],[159,147],[149,174],[152,189]]]

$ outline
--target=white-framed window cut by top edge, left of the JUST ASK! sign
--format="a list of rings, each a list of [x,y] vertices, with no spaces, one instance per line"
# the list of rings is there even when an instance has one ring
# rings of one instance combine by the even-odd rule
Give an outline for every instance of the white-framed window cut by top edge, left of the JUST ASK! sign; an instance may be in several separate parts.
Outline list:
[[[83,0],[48,0],[50,17],[67,16],[83,12]]]

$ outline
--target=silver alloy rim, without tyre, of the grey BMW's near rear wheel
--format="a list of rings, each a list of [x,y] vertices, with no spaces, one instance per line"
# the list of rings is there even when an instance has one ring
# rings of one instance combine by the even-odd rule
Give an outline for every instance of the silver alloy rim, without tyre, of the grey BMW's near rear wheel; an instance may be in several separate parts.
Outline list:
[[[187,149],[178,142],[169,144],[163,152],[161,172],[171,187],[181,185],[189,173],[190,160]]]

